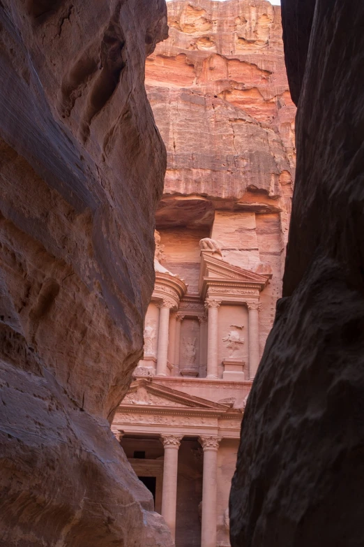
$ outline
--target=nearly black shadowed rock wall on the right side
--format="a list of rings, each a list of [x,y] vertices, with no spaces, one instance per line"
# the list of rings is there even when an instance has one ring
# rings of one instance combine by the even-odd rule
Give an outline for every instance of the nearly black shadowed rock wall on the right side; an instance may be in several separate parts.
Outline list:
[[[243,420],[234,547],[364,543],[364,5],[317,0],[308,36],[303,4],[282,0],[296,185],[284,298]]]

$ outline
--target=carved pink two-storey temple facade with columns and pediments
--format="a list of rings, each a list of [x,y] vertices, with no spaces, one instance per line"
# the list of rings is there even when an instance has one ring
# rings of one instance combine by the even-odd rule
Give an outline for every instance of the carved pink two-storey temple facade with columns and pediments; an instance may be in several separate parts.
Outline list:
[[[266,306],[260,304],[272,279],[269,270],[258,273],[243,260],[239,266],[224,258],[223,238],[197,235],[203,234],[196,231],[193,239],[198,261],[186,271],[178,246],[170,245],[173,231],[158,233],[144,358],[113,424],[176,547],[229,545],[229,486],[259,363],[259,309]],[[179,230],[180,245],[191,253],[188,237]]]

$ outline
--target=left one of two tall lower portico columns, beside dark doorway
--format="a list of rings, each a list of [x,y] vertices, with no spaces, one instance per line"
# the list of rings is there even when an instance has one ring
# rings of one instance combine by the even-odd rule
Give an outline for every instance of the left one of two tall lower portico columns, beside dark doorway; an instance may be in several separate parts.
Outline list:
[[[161,435],[160,440],[165,447],[162,488],[162,517],[165,519],[172,539],[176,537],[176,506],[177,506],[177,472],[179,462],[179,446],[183,435]]]

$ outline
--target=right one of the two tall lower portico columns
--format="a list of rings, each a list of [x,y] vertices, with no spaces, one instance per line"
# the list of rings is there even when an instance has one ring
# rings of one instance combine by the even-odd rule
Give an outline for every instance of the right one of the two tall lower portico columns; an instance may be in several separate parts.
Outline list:
[[[216,547],[218,437],[199,437],[204,449],[201,547]]]

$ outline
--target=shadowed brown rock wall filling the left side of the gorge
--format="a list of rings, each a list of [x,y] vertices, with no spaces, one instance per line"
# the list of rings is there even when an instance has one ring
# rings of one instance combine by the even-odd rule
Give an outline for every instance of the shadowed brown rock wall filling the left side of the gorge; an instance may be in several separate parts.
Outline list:
[[[0,543],[168,546],[107,420],[142,354],[162,0],[0,1]]]

